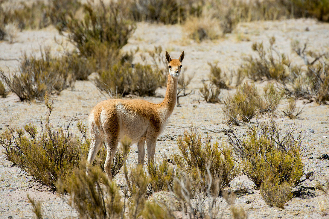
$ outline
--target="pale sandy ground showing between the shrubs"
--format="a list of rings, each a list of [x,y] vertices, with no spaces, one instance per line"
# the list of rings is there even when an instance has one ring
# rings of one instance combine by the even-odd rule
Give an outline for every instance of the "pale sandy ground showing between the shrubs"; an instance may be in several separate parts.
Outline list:
[[[307,30],[308,29],[308,30]],[[0,68],[13,73],[17,68],[17,59],[22,52],[28,54],[38,52],[40,45],[51,45],[54,53],[59,53],[61,47],[54,42],[54,37],[63,39],[54,28],[47,28],[38,31],[23,31],[17,34],[16,42],[10,44],[7,41],[0,42]],[[253,54],[251,45],[255,41],[264,41],[268,44],[268,38],[276,38],[276,46],[280,52],[288,54],[291,59],[300,62],[299,58],[291,52],[291,41],[308,41],[309,48],[327,51],[329,46],[329,24],[320,23],[314,19],[291,19],[283,21],[259,21],[253,23],[240,23],[232,34],[214,41],[203,41],[196,43],[188,39],[181,26],[165,26],[161,24],[139,23],[138,28],[124,47],[125,50],[139,47],[139,53],[153,50],[154,46],[161,45],[167,50],[172,58],[177,58],[181,51],[185,51],[183,61],[183,74],[194,75],[190,88],[195,90],[195,94],[180,99],[181,107],[175,107],[167,127],[157,142],[156,159],[161,160],[162,156],[177,152],[175,138],[183,134],[184,129],[192,124],[199,128],[205,137],[207,134],[213,139],[225,140],[223,133],[218,133],[221,127],[226,127],[222,113],[222,104],[209,104],[202,101],[198,88],[201,87],[202,78],[207,78],[210,67],[208,62],[218,62],[222,69],[234,69],[242,63],[242,58],[247,54]],[[163,54],[164,55],[164,54]],[[139,56],[136,55],[136,61]],[[8,67],[8,68],[7,68]],[[262,84],[257,83],[261,87]],[[234,90],[223,91],[221,96],[226,96]],[[161,102],[165,93],[165,88],[157,90],[159,97],[143,97],[150,102]],[[101,100],[107,99],[96,89],[94,83],[89,81],[77,81],[75,87],[64,90],[59,96],[55,96],[55,109],[51,115],[53,124],[67,124],[76,114],[78,120],[85,121],[92,107]],[[136,98],[136,97],[134,97]],[[314,176],[310,180],[304,181],[301,185],[311,187],[315,181],[324,182],[328,178],[329,160],[316,159],[323,153],[329,153],[329,107],[328,105],[317,105],[309,103],[303,108],[300,119],[290,120],[281,118],[282,110],[287,105],[286,101],[279,106],[276,112],[277,121],[280,127],[294,123],[300,127],[303,140],[303,162],[305,172],[314,171]],[[303,101],[298,100],[297,105],[303,106]],[[9,125],[23,125],[25,122],[38,122],[46,113],[46,108],[42,103],[19,102],[14,94],[9,94],[6,98],[0,98],[0,129],[5,129]],[[264,117],[263,117],[264,118]],[[61,120],[60,120],[61,119]],[[59,122],[60,121],[60,122]],[[242,132],[248,126],[239,127]],[[309,130],[313,129],[314,132]],[[136,145],[132,146],[136,151]],[[0,149],[3,151],[3,149]],[[313,156],[314,159],[308,159]],[[131,153],[128,163],[136,165],[137,153]],[[146,161],[146,159],[145,159]],[[32,218],[34,216],[32,207],[26,195],[42,201],[45,214],[49,217],[65,218],[76,217],[76,212],[56,193],[39,188],[18,167],[11,167],[12,163],[7,161],[5,155],[0,152],[0,218]],[[116,177],[118,184],[124,184],[122,174]],[[242,206],[249,215],[249,218],[319,218],[328,217],[318,209],[318,202],[325,197],[322,192],[308,189],[303,191],[300,197],[291,199],[281,210],[276,207],[269,207],[261,198],[259,190],[253,189],[252,182],[245,176],[234,179],[230,183],[230,191],[241,188],[247,189],[247,194],[238,194],[236,205]],[[11,191],[13,189],[13,191]],[[218,198],[222,199],[222,198]],[[246,201],[250,204],[246,204]],[[225,202],[220,204],[224,210]],[[324,211],[329,213],[328,210]],[[224,217],[230,218],[230,210],[224,211]]]

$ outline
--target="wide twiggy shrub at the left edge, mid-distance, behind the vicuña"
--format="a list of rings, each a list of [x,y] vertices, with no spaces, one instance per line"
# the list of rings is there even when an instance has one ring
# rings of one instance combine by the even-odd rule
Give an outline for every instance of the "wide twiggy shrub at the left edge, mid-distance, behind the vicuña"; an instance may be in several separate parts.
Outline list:
[[[0,71],[0,77],[21,101],[34,98],[42,100],[46,90],[58,94],[73,85],[74,78],[67,71],[68,64],[52,57],[50,48],[44,51],[40,49],[40,52],[40,59],[36,55],[28,57],[25,54],[19,66],[20,72],[13,77]]]

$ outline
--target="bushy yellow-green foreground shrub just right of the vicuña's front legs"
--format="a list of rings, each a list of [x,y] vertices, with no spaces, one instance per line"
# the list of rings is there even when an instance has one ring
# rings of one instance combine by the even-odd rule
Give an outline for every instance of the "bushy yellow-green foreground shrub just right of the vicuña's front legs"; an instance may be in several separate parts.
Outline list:
[[[177,138],[180,153],[172,155],[172,161],[180,171],[191,177],[191,190],[220,191],[240,172],[240,167],[235,163],[230,148],[217,141],[211,144],[210,138],[202,143],[201,135],[196,128],[185,130],[184,136]],[[211,179],[210,179],[211,178]],[[207,181],[210,183],[207,184]],[[209,186],[209,188],[208,188]]]

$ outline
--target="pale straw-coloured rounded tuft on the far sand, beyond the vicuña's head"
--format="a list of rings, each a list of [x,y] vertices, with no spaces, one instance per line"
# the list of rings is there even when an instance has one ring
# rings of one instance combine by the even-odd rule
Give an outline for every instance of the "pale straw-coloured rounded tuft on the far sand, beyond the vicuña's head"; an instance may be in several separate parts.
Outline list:
[[[197,42],[214,40],[219,37],[218,20],[210,17],[191,17],[184,23],[184,29],[189,38]]]

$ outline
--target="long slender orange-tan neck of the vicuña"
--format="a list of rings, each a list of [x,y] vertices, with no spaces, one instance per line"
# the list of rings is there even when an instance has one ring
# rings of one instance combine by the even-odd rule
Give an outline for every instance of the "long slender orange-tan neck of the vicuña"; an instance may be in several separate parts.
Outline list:
[[[165,93],[164,101],[160,104],[162,108],[167,110],[167,116],[169,116],[174,107],[176,105],[177,99],[177,84],[178,84],[178,77],[173,78],[171,75],[168,75],[168,83],[167,83],[167,90]]]

